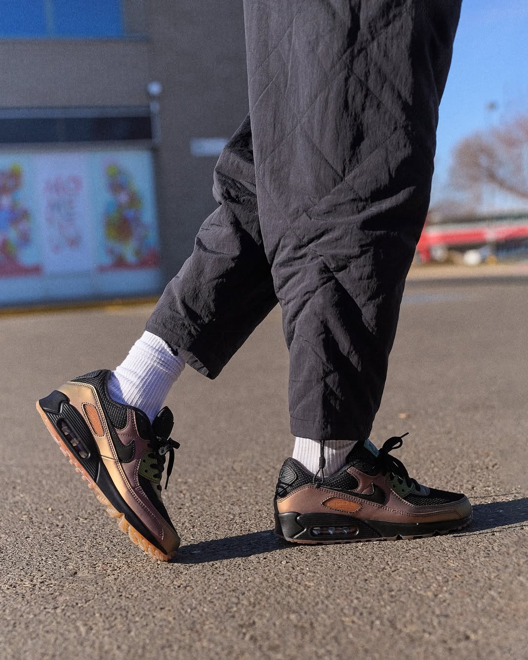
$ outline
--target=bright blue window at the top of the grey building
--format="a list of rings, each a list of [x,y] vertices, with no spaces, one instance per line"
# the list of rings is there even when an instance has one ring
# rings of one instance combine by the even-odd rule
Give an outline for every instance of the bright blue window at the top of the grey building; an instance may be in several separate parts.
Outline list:
[[[143,0],[2,0],[0,37],[112,38],[137,35]]]

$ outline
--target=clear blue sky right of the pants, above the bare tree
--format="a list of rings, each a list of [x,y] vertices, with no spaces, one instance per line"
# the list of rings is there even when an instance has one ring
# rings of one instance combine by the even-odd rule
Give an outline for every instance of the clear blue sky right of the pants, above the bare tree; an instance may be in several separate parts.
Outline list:
[[[498,109],[486,110],[490,102]],[[463,0],[440,104],[432,201],[442,197],[457,141],[520,112],[528,112],[528,0]]]

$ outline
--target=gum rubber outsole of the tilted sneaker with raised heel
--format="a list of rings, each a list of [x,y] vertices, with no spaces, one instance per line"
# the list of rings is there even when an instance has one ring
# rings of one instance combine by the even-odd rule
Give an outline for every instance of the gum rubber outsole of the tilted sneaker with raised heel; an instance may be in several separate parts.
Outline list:
[[[137,545],[138,548],[143,550],[143,552],[148,554],[149,557],[151,557],[152,559],[156,559],[159,562],[168,562],[172,558],[174,558],[176,552],[178,551],[178,548],[176,548],[176,550],[174,550],[173,552],[170,552],[170,554],[165,554],[159,548],[156,548],[156,546],[152,545],[150,541],[147,541],[147,539],[145,539],[145,537],[141,533],[139,533],[139,531],[137,531],[135,527],[132,527],[129,521],[127,521],[127,519],[125,518],[124,513],[117,511],[117,509],[114,508],[114,506],[112,506],[111,502],[108,500],[108,498],[106,498],[106,496],[99,488],[99,486],[96,484],[96,482],[94,482],[92,477],[88,475],[86,470],[84,470],[84,468],[82,467],[81,463],[79,463],[79,461],[77,461],[77,459],[75,458],[75,455],[71,453],[65,442],[63,442],[59,434],[57,434],[57,431],[55,430],[51,422],[49,422],[48,416],[46,416],[46,413],[44,413],[40,405],[38,405],[38,401],[36,403],[36,407],[38,414],[40,414],[40,416],[42,417],[42,421],[44,422],[44,424],[46,424],[46,428],[48,429],[49,434],[51,434],[51,437],[53,438],[53,440],[55,440],[55,442],[59,446],[59,449],[62,451],[65,457],[69,459],[71,465],[75,467],[75,471],[79,473],[79,475],[81,475],[82,480],[86,481],[88,488],[94,491],[94,494],[98,499],[98,501],[106,508],[106,513],[108,513],[108,515],[110,515],[111,518],[116,519],[117,526],[119,527],[119,529],[125,534],[127,534],[129,539],[132,541],[132,543]]]

